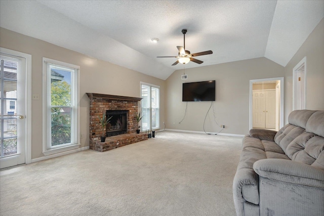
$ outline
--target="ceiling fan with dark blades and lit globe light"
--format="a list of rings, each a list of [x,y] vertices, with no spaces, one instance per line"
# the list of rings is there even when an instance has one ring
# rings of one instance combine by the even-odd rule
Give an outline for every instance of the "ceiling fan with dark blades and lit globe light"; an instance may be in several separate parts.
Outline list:
[[[173,63],[172,65],[176,65],[179,62],[181,64],[187,64],[189,61],[195,62],[197,64],[201,64],[201,63],[203,63],[203,61],[200,61],[198,59],[194,59],[192,57],[213,54],[213,51],[211,51],[211,50],[200,52],[200,53],[190,54],[190,51],[185,49],[186,48],[185,47],[185,34],[187,33],[187,29],[182,29],[181,32],[183,33],[183,47],[177,46],[177,48],[179,50],[178,56],[158,56],[156,58],[177,58],[178,60],[175,63]]]

